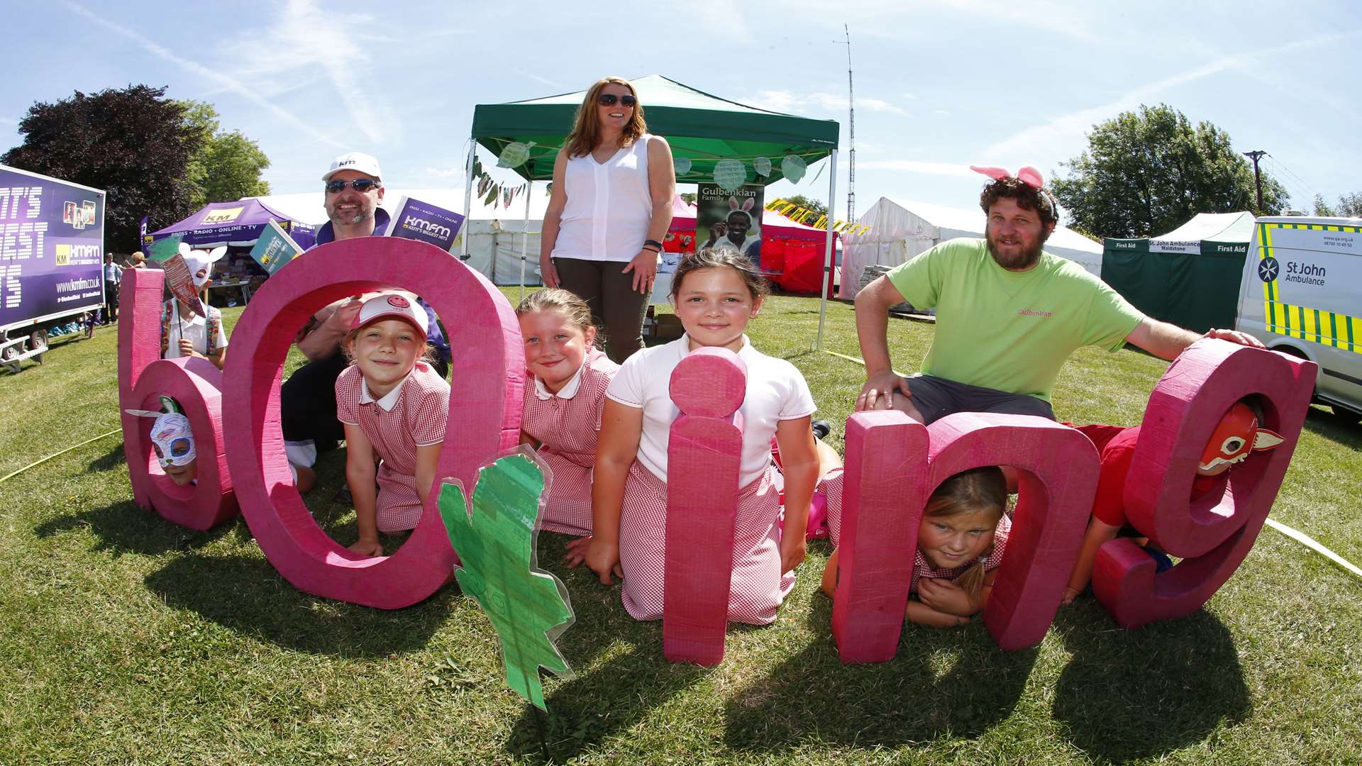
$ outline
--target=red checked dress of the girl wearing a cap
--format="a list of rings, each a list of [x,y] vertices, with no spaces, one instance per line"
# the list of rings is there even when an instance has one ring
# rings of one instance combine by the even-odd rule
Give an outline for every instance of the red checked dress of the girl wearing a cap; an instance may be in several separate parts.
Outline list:
[[[396,397],[390,398],[394,394]],[[369,397],[358,367],[350,365],[336,378],[336,420],[358,425],[383,459],[379,465],[380,532],[413,529],[421,521],[417,447],[444,442],[448,417],[449,384],[424,361],[377,401]]]

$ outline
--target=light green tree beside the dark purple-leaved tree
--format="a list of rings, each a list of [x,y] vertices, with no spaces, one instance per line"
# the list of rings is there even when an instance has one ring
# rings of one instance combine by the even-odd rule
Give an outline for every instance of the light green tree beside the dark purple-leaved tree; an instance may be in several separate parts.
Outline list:
[[[191,199],[195,207],[244,196],[270,194],[260,172],[270,166],[260,146],[241,131],[225,132],[211,104],[181,101],[185,125],[199,138],[199,151],[189,158]]]

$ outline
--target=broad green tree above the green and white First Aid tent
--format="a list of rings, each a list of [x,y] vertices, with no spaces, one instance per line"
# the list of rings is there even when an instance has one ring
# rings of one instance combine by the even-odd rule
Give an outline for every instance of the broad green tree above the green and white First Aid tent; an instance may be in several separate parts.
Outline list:
[[[1256,209],[1253,166],[1211,123],[1192,125],[1160,104],[1140,106],[1092,127],[1088,150],[1061,166],[1051,183],[1081,229],[1105,237],[1147,237],[1173,230],[1197,213],[1276,214],[1286,189],[1263,173]]]

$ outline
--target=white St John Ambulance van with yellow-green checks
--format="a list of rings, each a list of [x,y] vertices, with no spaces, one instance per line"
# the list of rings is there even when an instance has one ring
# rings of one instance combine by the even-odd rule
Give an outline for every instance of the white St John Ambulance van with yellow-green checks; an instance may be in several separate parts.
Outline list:
[[[1237,328],[1318,364],[1316,399],[1362,413],[1362,218],[1258,218]]]

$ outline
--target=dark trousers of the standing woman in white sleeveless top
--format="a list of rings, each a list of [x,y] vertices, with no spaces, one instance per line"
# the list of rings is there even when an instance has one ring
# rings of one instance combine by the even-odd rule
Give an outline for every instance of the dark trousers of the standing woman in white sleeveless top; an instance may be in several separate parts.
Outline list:
[[[633,271],[618,260],[554,258],[558,281],[591,307],[597,328],[605,334],[605,352],[616,364],[643,348],[643,318],[648,296],[633,289]],[[651,294],[651,290],[650,290]]]

